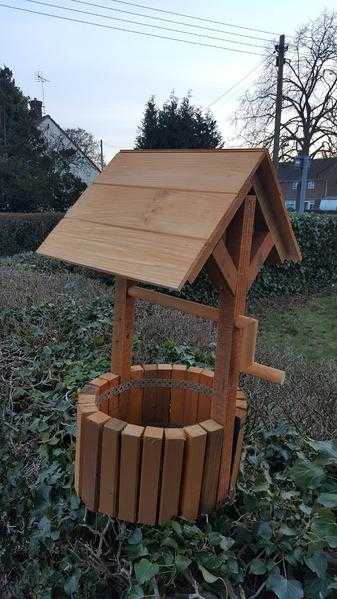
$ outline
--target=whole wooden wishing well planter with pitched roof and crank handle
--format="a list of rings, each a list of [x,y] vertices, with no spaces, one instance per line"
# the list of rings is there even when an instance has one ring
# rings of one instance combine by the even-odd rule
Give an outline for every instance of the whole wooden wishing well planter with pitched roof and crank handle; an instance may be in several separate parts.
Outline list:
[[[78,397],[77,493],[90,510],[130,522],[209,512],[239,470],[240,373],[284,380],[255,361],[258,322],[245,315],[265,260],[301,259],[268,153],[121,151],[39,252],[116,275],[111,371]],[[137,285],[180,290],[202,269],[218,308]],[[214,372],[132,365],[136,300],[215,321]]]

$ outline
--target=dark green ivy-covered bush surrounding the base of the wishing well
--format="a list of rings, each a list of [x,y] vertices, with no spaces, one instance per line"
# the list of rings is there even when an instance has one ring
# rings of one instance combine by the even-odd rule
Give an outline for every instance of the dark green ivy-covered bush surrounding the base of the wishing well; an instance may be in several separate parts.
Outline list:
[[[158,307],[140,310],[135,360],[211,365],[210,331],[199,333],[205,348],[197,352],[186,343],[193,341],[186,335],[188,323],[182,328],[182,317],[167,316],[180,344],[163,343],[161,330],[155,334],[155,320],[163,314]],[[160,528],[127,525],[86,513],[73,490],[76,392],[108,369],[110,327],[111,298],[104,292],[83,304],[70,289],[62,301],[0,313],[1,597],[140,599],[180,592],[333,599],[337,442],[327,409],[333,395],[325,395],[336,380],[336,364],[328,376],[326,364],[317,364],[310,376],[296,364],[294,389],[303,386],[298,398],[291,389],[285,397],[258,382],[235,501],[195,524],[177,519]],[[324,406],[315,431],[320,393]],[[328,440],[312,441],[303,427],[290,429],[291,419],[302,423],[303,412],[309,432]],[[282,415],[289,415],[288,422],[275,430]]]

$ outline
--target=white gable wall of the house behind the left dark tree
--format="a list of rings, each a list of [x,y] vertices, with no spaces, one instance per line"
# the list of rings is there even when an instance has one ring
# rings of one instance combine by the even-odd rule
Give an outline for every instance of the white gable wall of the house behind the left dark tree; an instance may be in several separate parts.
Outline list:
[[[62,129],[48,115],[38,124],[38,128],[42,132],[48,146],[56,149],[65,148],[76,151],[70,166],[71,172],[81,179],[83,183],[89,185],[98,175],[99,169],[95,168],[90,160],[76,148],[67,135],[63,133]]]

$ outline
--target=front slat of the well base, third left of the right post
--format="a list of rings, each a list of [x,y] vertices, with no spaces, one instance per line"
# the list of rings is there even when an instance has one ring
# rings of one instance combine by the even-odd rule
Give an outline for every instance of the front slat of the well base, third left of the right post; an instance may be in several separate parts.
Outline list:
[[[163,524],[179,513],[180,483],[185,434],[181,428],[166,428],[158,523]]]

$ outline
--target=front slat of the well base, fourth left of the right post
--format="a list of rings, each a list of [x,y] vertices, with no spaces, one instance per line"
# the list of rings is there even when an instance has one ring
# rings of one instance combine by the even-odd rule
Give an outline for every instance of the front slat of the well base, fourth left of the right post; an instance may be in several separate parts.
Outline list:
[[[138,521],[155,524],[164,429],[147,426],[143,435]]]

